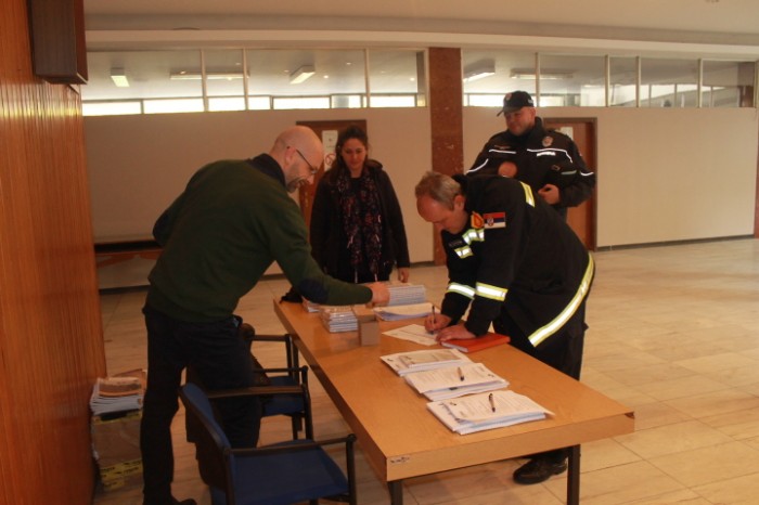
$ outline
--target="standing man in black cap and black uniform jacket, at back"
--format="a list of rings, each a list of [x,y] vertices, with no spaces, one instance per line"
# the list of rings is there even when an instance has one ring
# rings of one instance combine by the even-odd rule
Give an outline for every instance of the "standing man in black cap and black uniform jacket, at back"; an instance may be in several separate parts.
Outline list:
[[[595,173],[586,166],[577,144],[564,133],[545,130],[536,116],[535,103],[526,91],[514,91],[503,99],[498,113],[506,119],[506,130],[488,140],[467,174],[505,174],[502,165],[516,165],[516,174],[566,219],[567,207],[590,198]],[[557,178],[557,172],[564,177]]]

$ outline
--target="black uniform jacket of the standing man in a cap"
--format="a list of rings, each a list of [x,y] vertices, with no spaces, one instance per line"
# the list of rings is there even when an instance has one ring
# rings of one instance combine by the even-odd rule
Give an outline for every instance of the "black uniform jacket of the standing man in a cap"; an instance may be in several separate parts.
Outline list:
[[[561,199],[554,208],[562,216],[567,207],[590,198],[595,187],[595,173],[586,166],[577,144],[564,133],[545,130],[539,117],[525,135],[516,137],[509,130],[492,135],[466,173],[496,174],[503,161],[513,161],[517,166],[515,179],[529,184],[536,194],[545,184],[556,185]]]

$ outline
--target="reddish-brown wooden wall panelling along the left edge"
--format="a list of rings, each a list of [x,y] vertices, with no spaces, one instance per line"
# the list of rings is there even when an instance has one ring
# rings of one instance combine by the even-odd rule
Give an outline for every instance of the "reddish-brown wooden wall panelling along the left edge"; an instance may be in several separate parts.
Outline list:
[[[105,373],[81,106],[33,76],[25,0],[0,11],[0,503],[90,503]]]

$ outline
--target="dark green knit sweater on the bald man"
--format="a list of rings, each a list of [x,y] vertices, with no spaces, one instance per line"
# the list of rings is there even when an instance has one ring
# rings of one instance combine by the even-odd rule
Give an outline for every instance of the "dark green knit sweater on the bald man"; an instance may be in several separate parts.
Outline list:
[[[273,261],[311,301],[350,305],[372,298],[368,287],[319,269],[282,169],[266,154],[203,167],[153,234],[164,250],[149,276],[147,303],[181,321],[229,318]]]

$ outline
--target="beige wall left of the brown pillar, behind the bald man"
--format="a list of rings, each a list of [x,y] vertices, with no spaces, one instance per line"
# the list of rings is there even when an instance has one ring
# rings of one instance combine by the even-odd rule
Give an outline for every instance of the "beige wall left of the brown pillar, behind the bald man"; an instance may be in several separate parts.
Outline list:
[[[85,119],[95,242],[149,238],[153,222],[204,164],[268,152],[299,120],[365,119],[370,156],[401,200],[411,260],[429,261],[432,229],[416,216],[413,187],[432,169],[426,108],[234,112]]]

